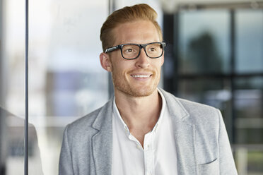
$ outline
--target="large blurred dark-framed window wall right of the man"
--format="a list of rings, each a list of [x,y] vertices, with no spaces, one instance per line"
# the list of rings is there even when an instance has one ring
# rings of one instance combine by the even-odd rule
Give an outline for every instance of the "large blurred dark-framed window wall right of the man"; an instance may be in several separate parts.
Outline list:
[[[263,11],[185,7],[163,18],[165,89],[221,109],[239,173],[262,174]]]

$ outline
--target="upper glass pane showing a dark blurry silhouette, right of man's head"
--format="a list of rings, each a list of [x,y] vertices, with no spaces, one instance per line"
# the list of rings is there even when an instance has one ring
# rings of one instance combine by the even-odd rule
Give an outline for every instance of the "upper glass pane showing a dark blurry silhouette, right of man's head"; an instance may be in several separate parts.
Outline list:
[[[228,11],[180,12],[180,73],[228,73]]]

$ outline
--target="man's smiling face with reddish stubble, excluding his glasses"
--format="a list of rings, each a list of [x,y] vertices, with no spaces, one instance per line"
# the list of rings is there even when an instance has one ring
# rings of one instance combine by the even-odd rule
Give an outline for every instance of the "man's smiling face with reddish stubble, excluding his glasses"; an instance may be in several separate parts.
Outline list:
[[[151,21],[139,20],[124,23],[113,30],[115,45],[118,44],[146,44],[149,42],[162,42],[158,32]],[[110,66],[115,94],[122,93],[133,97],[151,95],[160,80],[160,68],[163,65],[163,56],[151,59],[146,56],[144,49],[137,59],[126,60],[122,58],[120,49],[110,53]]]

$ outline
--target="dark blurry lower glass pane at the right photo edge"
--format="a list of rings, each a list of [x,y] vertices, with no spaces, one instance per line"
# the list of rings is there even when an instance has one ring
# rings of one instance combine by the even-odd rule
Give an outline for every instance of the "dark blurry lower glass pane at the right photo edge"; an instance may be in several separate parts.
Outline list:
[[[237,142],[263,143],[263,78],[237,78],[235,87]]]

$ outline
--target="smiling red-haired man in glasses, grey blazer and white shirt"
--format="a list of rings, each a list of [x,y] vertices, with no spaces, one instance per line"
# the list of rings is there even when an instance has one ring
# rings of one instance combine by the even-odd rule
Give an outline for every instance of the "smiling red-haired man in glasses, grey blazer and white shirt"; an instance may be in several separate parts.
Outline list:
[[[100,64],[115,97],[66,126],[59,174],[237,174],[220,111],[157,88],[165,43],[156,16],[139,4],[103,24]]]

